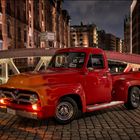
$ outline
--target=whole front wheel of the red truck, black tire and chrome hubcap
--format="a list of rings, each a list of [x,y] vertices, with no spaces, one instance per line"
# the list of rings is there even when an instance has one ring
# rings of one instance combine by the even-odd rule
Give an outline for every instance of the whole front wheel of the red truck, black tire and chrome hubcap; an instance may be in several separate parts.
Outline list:
[[[55,120],[60,124],[67,124],[74,120],[78,115],[78,106],[76,102],[70,98],[63,98],[56,107]]]

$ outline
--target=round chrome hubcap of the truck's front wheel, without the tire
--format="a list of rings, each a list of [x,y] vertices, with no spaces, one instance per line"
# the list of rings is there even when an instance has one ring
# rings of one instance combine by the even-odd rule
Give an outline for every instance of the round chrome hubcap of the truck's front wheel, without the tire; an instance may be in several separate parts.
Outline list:
[[[73,106],[69,102],[62,102],[57,106],[56,117],[60,120],[69,120],[73,116]]]

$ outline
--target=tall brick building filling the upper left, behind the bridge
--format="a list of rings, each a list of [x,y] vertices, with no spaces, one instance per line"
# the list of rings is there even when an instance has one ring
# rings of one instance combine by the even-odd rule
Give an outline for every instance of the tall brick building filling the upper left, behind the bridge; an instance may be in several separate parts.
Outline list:
[[[0,0],[0,49],[69,47],[69,19],[62,0]]]

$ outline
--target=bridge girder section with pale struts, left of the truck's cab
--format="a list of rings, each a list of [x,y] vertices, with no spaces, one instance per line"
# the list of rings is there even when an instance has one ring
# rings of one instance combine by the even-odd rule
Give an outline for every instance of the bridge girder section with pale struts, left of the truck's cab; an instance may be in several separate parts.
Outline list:
[[[57,49],[31,48],[0,51],[0,84],[7,82],[9,78],[9,69],[12,70],[13,74],[20,73],[19,69],[15,65],[14,59],[29,57],[39,58],[39,61],[34,68],[34,71],[38,71],[42,65],[45,65],[45,67],[47,67],[51,56],[55,53],[56,50]]]

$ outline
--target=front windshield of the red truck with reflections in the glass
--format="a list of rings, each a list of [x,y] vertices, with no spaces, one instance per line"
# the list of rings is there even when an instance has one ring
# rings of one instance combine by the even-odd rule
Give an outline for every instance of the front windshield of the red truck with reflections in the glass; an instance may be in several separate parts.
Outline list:
[[[49,68],[82,68],[86,54],[83,52],[63,52],[56,54]]]

